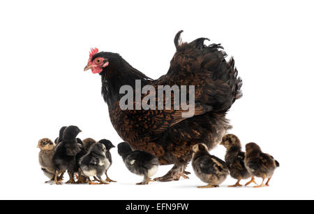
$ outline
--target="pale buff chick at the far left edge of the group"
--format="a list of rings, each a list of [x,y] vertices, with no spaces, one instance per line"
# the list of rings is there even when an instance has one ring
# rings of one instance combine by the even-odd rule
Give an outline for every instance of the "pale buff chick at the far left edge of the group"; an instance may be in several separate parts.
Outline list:
[[[41,170],[43,170],[45,176],[47,176],[50,180],[54,180],[54,174],[56,173],[54,164],[52,163],[55,146],[56,145],[49,138],[41,139],[38,141],[37,145],[37,147],[40,148],[38,159]],[[45,183],[48,183],[50,180]]]

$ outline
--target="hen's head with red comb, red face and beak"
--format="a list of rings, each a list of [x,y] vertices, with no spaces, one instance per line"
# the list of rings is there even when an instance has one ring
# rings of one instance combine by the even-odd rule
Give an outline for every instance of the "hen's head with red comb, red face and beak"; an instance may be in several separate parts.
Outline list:
[[[91,69],[93,73],[101,73],[103,69],[109,66],[112,59],[119,55],[112,52],[98,52],[98,48],[91,48],[89,52],[89,61],[85,66],[84,71]]]

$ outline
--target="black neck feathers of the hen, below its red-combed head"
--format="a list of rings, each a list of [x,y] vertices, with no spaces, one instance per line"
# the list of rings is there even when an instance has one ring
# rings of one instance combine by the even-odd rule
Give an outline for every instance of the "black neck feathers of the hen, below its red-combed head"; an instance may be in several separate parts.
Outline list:
[[[113,106],[124,96],[119,94],[123,85],[130,85],[135,90],[135,80],[141,80],[142,86],[151,81],[151,78],[134,69],[120,56],[112,60],[110,66],[107,66],[100,76],[103,85],[101,93],[108,106]]]

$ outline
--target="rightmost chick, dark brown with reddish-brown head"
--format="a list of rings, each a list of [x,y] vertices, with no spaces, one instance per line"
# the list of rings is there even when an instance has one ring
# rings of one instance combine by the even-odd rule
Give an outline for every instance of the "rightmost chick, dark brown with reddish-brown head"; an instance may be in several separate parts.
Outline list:
[[[252,174],[252,179],[250,182],[246,183],[249,185],[252,183],[254,176],[262,178],[262,184],[257,185],[255,187],[264,187],[264,185],[269,185],[269,180],[274,174],[276,167],[279,166],[279,163],[272,157],[266,153],[263,153],[260,149],[260,146],[256,143],[248,143],[246,144],[246,157],[244,159],[244,164],[246,169]],[[264,180],[268,178],[267,183],[264,184]]]

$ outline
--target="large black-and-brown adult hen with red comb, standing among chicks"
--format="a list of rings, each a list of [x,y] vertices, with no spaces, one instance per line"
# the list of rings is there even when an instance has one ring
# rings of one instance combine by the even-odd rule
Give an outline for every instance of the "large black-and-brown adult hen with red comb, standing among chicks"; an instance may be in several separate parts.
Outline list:
[[[133,68],[119,54],[98,52],[97,49],[91,51],[84,69],[100,74],[103,99],[119,136],[134,150],[156,155],[160,164],[174,164],[165,176],[156,178],[159,181],[188,178],[184,173],[192,157],[191,148],[197,143],[205,143],[211,149],[220,143],[231,128],[225,115],[234,101],[241,97],[242,83],[237,76],[234,59],[225,59],[227,55],[220,44],[204,45],[206,38],[182,43],[181,32],[174,38],[177,51],[169,70],[156,80]],[[119,101],[124,94],[119,90],[123,85],[130,85],[135,91],[135,80],[141,80],[142,87],[152,85],[156,92],[158,85],[177,85],[179,90],[181,86],[194,85],[194,115],[182,117],[182,113],[186,113],[182,108],[122,110]],[[186,97],[189,95],[188,91]],[[172,93],[172,107],[173,97]]]

